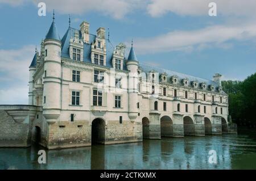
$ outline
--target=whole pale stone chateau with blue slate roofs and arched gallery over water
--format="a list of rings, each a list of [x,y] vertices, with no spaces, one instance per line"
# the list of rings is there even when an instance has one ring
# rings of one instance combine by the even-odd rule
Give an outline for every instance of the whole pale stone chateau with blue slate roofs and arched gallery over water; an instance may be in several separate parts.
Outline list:
[[[48,149],[143,138],[236,133],[221,75],[213,80],[142,64],[105,28],[67,28],[55,18],[29,66],[28,105],[0,106],[0,146]]]

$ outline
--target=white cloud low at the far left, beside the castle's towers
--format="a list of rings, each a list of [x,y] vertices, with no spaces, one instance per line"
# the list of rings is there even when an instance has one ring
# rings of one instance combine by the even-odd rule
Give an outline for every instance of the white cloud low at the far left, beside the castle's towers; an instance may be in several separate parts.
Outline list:
[[[0,104],[27,104],[28,66],[35,47],[0,49]]]

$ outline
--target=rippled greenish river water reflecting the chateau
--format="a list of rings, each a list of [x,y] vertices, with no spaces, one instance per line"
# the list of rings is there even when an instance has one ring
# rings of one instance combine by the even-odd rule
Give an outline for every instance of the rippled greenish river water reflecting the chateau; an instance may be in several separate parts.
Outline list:
[[[49,150],[46,164],[38,163],[40,149],[0,148],[0,169],[256,169],[253,132]],[[208,162],[209,150],[217,164]]]

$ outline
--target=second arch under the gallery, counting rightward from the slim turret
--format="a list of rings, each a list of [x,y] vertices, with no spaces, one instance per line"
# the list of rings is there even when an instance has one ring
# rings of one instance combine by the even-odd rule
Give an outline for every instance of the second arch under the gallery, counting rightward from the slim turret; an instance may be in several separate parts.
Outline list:
[[[172,137],[174,136],[174,124],[171,117],[163,116],[160,119],[161,136]]]

